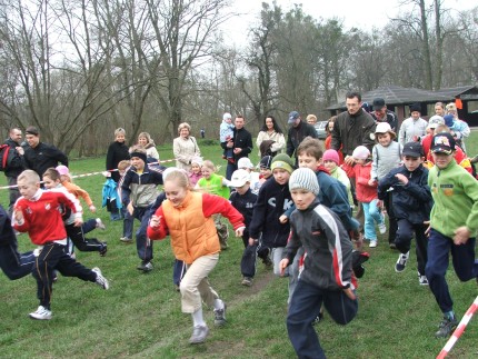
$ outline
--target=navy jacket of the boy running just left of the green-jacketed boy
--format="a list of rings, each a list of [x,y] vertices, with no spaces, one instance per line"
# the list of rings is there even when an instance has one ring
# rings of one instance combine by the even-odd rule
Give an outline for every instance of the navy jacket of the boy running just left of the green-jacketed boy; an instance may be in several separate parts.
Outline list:
[[[408,178],[406,186],[395,177],[397,173]],[[394,168],[378,182],[378,199],[384,200],[389,188],[394,189],[391,201],[397,219],[407,219],[414,225],[430,219],[434,200],[428,187],[428,169],[420,166],[410,172],[405,166]]]

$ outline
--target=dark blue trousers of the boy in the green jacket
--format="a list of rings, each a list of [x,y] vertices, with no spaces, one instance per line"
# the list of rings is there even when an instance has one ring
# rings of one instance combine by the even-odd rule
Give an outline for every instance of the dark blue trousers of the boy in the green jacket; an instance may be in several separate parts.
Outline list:
[[[454,240],[431,229],[428,239],[428,261],[425,267],[431,292],[444,313],[454,309],[454,301],[448,290],[445,275],[448,269],[448,257],[460,281],[478,277],[478,262],[475,259],[475,238],[469,238],[465,245],[457,246]]]

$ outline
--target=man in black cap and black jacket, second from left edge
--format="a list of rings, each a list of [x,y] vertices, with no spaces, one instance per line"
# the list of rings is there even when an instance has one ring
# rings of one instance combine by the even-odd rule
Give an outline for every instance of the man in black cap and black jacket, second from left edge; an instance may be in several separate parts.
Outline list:
[[[29,169],[36,171],[40,178],[50,167],[57,167],[59,163],[68,167],[67,154],[52,144],[41,142],[40,132],[36,127],[27,127],[24,133],[29,144],[23,154],[24,163]]]

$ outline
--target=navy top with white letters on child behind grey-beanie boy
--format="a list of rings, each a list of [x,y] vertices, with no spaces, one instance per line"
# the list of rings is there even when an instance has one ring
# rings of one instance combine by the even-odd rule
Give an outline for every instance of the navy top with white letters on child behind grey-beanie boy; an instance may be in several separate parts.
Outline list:
[[[273,177],[268,179],[259,189],[252,220],[249,226],[250,237],[259,239],[269,248],[286,247],[290,225],[279,222],[279,217],[292,206],[289,185],[279,185]]]

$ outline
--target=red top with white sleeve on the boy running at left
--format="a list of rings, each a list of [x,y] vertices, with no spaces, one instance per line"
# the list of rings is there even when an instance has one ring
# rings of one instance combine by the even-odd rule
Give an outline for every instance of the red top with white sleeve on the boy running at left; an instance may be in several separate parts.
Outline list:
[[[37,246],[67,238],[60,208],[66,206],[81,218],[81,206],[73,195],[63,192],[41,191],[36,195],[36,200],[21,197],[14,205],[16,210],[21,210],[24,222],[20,226],[14,221],[13,228],[20,232],[28,232],[31,241]]]

